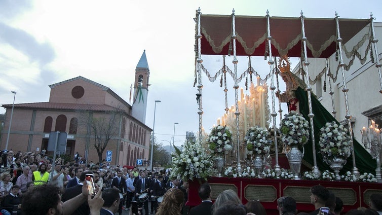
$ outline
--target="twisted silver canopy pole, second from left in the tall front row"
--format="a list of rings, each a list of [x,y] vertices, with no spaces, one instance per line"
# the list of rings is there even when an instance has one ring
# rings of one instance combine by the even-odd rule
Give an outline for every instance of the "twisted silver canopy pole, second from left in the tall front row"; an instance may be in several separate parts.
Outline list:
[[[234,49],[234,59],[232,60],[232,63],[234,64],[234,89],[235,89],[235,106],[236,106],[236,111],[235,111],[235,116],[236,116],[236,142],[237,142],[237,157],[238,157],[238,165],[236,167],[237,171],[241,173],[242,168],[240,164],[240,137],[239,137],[239,96],[238,96],[238,60],[236,59],[236,30],[235,30],[235,9],[232,10],[232,44],[233,44],[233,49]]]

